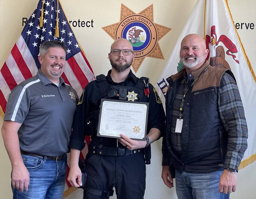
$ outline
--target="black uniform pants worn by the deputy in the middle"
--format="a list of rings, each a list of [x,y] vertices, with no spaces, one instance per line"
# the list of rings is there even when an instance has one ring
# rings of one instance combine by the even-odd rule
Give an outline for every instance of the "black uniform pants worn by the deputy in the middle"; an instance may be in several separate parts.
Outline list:
[[[146,188],[144,155],[105,156],[88,152],[85,162],[86,186],[100,191],[116,189],[117,199],[143,199]],[[84,190],[84,199],[99,199]],[[109,197],[108,197],[109,198]]]

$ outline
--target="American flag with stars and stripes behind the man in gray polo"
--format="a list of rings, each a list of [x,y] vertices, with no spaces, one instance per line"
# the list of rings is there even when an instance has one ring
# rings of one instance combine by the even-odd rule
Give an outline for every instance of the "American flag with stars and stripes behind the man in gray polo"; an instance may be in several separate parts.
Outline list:
[[[57,2],[59,4],[58,10]],[[28,19],[18,41],[14,44],[9,57],[0,71],[0,112],[2,112],[2,115],[5,112],[11,90],[25,79],[35,76],[40,68],[38,61],[39,47],[44,41],[58,40],[65,43],[67,47],[66,67],[62,78],[65,80],[65,83],[71,85],[76,90],[79,97],[85,85],[95,79],[92,68],[76,40],[59,1],[44,1],[43,27],[40,28],[39,21],[42,3],[42,0],[38,2],[36,10]],[[58,38],[55,37],[57,12],[59,23]],[[88,141],[89,139],[87,138]],[[83,151],[83,154],[85,153],[86,149]],[[80,157],[84,159],[83,154],[81,153]],[[69,187],[71,185],[67,181],[66,189]],[[67,194],[64,193],[65,195]]]

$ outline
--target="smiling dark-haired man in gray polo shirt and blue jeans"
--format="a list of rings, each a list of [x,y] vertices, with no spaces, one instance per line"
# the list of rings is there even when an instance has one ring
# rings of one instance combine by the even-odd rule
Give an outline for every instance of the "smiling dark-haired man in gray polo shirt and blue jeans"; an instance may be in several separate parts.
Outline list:
[[[66,61],[64,44],[46,41],[39,54],[41,70],[12,90],[2,126],[12,163],[13,198],[62,198],[65,187],[78,97],[60,77]]]

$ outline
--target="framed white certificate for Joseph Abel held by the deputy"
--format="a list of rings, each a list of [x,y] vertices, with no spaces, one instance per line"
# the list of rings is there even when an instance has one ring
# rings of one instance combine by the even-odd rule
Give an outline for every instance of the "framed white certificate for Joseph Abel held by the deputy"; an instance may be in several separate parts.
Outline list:
[[[147,102],[101,99],[97,136],[142,140],[147,133]]]

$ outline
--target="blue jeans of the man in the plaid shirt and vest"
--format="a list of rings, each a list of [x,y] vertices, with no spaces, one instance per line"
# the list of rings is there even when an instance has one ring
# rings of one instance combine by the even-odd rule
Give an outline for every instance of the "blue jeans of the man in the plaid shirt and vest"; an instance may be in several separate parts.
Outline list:
[[[176,170],[176,193],[179,199],[229,199],[229,194],[219,192],[223,171],[187,173]]]

